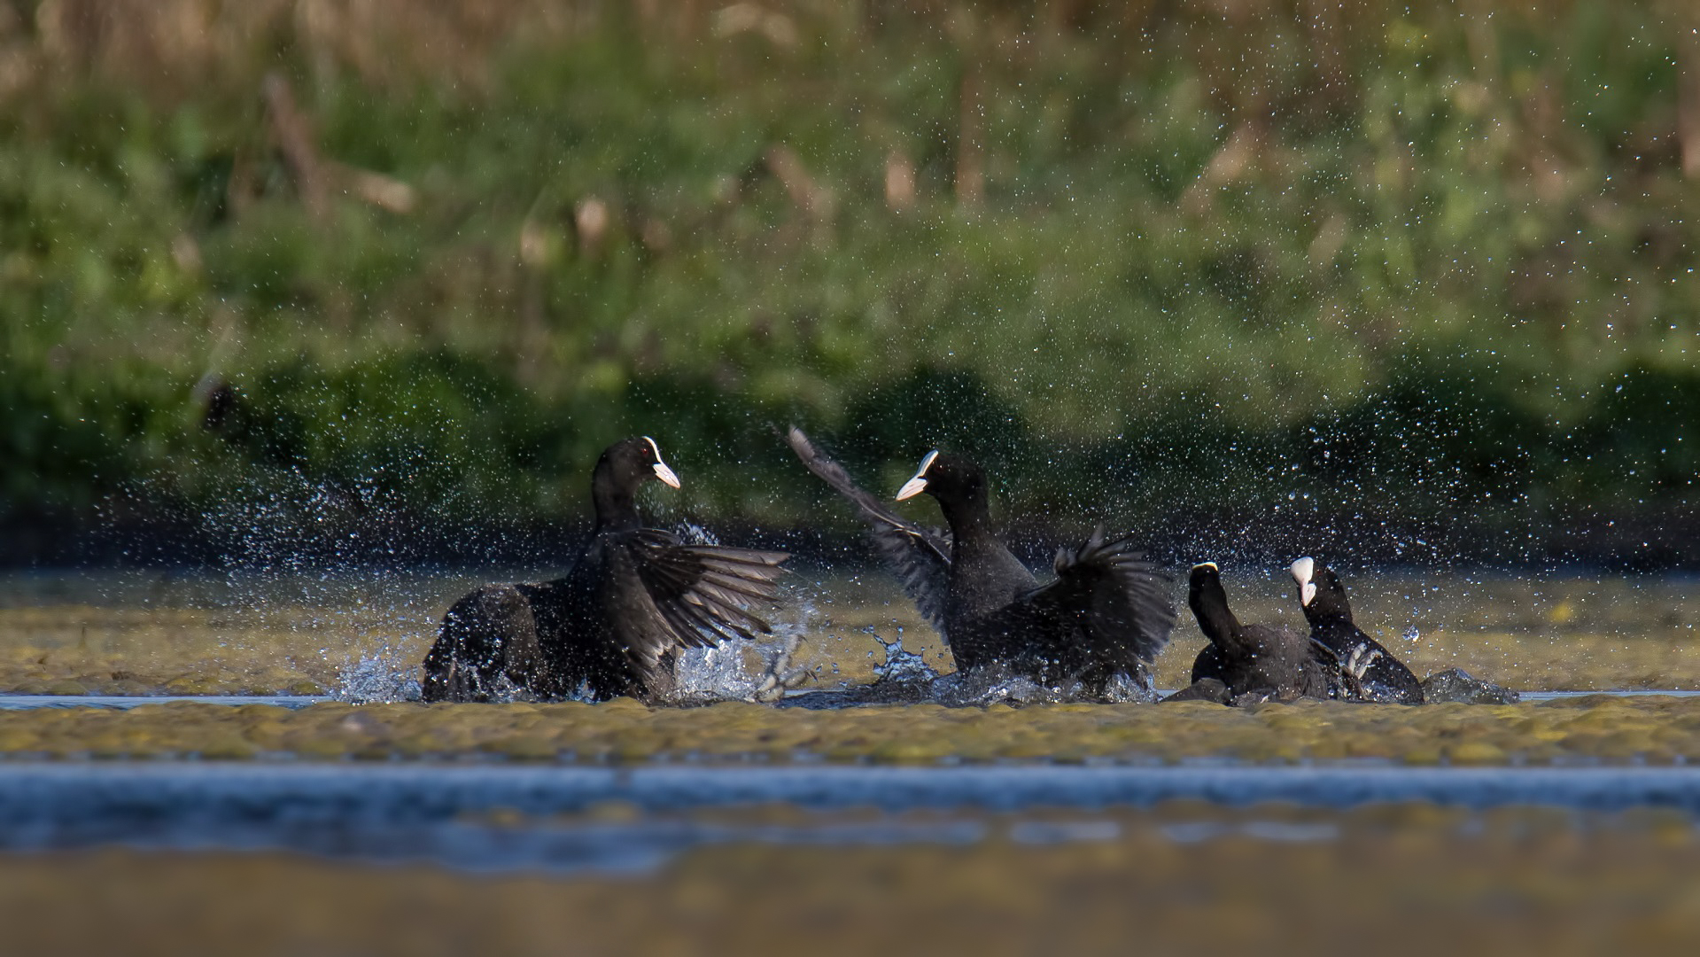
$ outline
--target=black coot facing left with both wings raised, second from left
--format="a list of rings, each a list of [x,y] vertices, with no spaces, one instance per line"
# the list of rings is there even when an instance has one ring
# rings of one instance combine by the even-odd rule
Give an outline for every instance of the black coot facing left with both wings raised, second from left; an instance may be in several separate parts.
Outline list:
[[[1175,609],[1168,578],[1127,539],[1093,532],[1056,556],[1056,581],[1040,585],[998,541],[986,474],[974,462],[928,452],[898,491],[938,501],[949,534],[923,529],[864,491],[797,428],[790,447],[816,476],[848,498],[904,592],[944,636],[957,670],[1001,670],[1046,687],[1080,682],[1103,697],[1117,677],[1151,687],[1149,663],[1168,643]]]

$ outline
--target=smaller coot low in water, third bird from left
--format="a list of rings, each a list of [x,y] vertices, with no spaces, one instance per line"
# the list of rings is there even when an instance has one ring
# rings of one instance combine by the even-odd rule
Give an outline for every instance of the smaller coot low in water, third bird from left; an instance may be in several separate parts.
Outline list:
[[[1187,603],[1210,644],[1192,665],[1192,682],[1216,682],[1227,700],[1295,700],[1338,695],[1338,661],[1311,636],[1287,626],[1241,624],[1227,607],[1222,573],[1214,561],[1192,566]],[[1170,700],[1217,700],[1216,685]],[[1207,694],[1209,692],[1209,694]],[[1178,697],[1187,695],[1187,697]]]

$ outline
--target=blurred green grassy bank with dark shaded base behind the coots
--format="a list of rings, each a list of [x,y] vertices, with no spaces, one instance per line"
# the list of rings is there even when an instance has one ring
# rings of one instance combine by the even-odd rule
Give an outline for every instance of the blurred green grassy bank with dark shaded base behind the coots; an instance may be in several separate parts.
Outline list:
[[[549,520],[644,432],[824,522],[796,418],[1040,515],[1690,515],[1685,17],[14,0],[0,513]]]

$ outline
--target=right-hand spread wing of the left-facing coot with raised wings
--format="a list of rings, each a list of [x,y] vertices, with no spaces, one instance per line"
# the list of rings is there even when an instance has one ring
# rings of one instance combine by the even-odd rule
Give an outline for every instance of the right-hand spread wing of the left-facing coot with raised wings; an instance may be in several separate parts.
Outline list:
[[[1129,539],[1105,541],[1103,529],[1057,551],[1057,580],[1018,603],[1028,615],[1073,622],[1080,651],[1129,675],[1142,673],[1175,629],[1170,578],[1134,551]]]

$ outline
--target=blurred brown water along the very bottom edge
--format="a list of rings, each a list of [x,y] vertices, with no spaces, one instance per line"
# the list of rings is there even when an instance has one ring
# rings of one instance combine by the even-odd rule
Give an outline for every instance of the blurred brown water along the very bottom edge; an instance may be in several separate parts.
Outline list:
[[[552,826],[620,833],[624,821],[631,811],[614,804]],[[1700,840],[1671,811],[1168,802],[950,818],[765,807],[672,821],[750,840],[578,875],[253,850],[0,853],[0,926],[24,954],[279,957],[1700,947]],[[524,818],[486,824],[530,838]],[[915,830],[935,840],[910,840]],[[799,831],[818,840],[755,840]],[[869,840],[881,831],[904,840]]]

